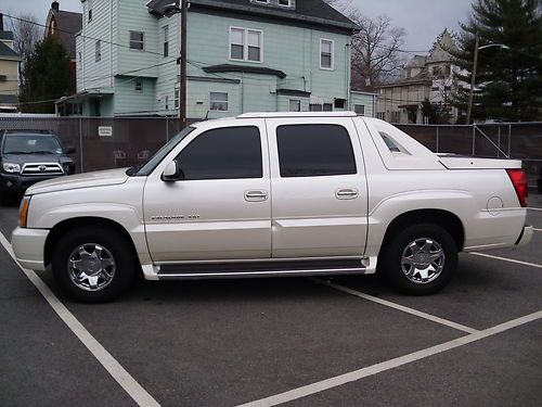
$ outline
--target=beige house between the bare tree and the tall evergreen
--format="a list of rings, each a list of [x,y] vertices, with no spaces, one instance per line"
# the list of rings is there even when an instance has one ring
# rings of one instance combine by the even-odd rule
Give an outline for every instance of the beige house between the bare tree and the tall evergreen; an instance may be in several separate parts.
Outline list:
[[[451,105],[451,96],[459,86],[452,55],[455,41],[444,30],[433,46],[429,55],[415,55],[404,65],[399,78],[377,88],[377,117],[390,123],[424,124],[423,103],[438,106],[440,117],[448,123],[457,120],[457,109]]]

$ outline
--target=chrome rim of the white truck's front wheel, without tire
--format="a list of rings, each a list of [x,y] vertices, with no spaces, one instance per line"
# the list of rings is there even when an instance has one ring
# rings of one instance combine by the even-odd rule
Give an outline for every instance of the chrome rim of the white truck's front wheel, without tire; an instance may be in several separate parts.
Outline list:
[[[104,246],[85,243],[72,252],[67,269],[69,278],[79,289],[100,291],[109,285],[115,277],[115,258]]]

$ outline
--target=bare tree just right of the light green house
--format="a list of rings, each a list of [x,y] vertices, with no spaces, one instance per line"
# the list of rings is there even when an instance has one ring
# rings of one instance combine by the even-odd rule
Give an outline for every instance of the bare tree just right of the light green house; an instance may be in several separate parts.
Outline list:
[[[352,87],[373,89],[389,82],[405,62],[404,28],[392,27],[387,15],[370,18],[350,10],[349,17],[360,26],[352,37]]]

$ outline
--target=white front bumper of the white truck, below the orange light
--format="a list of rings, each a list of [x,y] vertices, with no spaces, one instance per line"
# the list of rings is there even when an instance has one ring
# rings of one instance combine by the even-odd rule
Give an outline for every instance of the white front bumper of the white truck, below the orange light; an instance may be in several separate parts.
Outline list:
[[[17,227],[11,236],[11,245],[15,258],[24,268],[43,271],[46,240],[49,236],[47,229],[26,229]]]

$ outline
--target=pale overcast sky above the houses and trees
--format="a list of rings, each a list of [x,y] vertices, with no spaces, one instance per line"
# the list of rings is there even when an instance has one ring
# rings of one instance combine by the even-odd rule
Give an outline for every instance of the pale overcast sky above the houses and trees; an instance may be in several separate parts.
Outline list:
[[[140,0],[142,4],[147,0]],[[435,38],[446,28],[459,31],[457,22],[466,21],[470,0],[351,0],[367,16],[388,14],[392,24],[406,30],[404,48],[428,50]],[[79,0],[60,0],[61,9],[81,12]],[[0,0],[0,12],[18,15],[35,14],[44,23],[51,7],[49,0]]]

